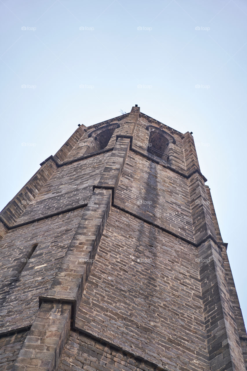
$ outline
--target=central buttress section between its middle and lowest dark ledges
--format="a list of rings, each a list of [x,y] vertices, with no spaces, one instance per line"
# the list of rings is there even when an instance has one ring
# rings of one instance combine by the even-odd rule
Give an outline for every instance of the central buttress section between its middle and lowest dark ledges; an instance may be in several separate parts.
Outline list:
[[[76,313],[111,207],[111,190],[96,189],[43,301],[73,302]]]

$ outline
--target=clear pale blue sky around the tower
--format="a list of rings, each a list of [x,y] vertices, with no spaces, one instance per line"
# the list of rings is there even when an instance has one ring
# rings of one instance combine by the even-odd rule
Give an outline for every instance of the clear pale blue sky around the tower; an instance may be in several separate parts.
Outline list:
[[[192,131],[247,323],[245,0],[0,1],[1,208],[78,124]]]

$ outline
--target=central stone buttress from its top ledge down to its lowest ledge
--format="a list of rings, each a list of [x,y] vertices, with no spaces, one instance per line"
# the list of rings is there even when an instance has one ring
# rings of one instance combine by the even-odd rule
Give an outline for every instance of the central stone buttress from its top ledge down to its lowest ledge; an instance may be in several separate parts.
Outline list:
[[[95,184],[88,206],[75,232],[55,279],[40,297],[45,300],[62,300],[74,303],[74,314],[85,288],[98,245],[111,208],[112,196],[122,174],[129,149],[129,139],[119,138],[106,163],[102,176]]]

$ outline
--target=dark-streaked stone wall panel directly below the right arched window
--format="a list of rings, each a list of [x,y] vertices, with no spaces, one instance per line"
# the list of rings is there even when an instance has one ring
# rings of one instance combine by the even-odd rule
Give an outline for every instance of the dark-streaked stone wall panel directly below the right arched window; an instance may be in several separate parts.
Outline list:
[[[115,204],[194,241],[187,179],[141,155],[129,152]]]

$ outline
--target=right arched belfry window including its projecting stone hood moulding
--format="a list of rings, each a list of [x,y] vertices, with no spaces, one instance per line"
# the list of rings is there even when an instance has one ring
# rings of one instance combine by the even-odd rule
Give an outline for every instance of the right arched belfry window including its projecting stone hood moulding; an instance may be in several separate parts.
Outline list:
[[[150,132],[147,151],[162,160],[169,161],[171,143],[176,143],[174,137],[168,132],[152,125],[148,125],[146,129]]]

